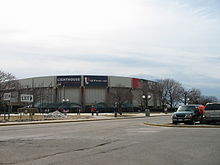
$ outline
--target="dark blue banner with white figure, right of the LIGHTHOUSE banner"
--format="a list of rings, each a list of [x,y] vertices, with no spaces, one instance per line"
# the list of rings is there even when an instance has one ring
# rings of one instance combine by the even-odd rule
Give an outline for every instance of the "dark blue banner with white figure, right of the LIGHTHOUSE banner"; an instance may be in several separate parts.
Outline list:
[[[107,87],[108,76],[84,76],[84,86]]]

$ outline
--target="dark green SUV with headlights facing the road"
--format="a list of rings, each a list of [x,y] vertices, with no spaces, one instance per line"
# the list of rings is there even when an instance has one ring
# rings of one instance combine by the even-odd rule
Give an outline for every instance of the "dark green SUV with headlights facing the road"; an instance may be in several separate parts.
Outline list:
[[[196,121],[200,121],[201,115],[199,108],[201,105],[183,105],[180,106],[177,112],[172,115],[173,124],[177,123],[189,123],[195,124]]]

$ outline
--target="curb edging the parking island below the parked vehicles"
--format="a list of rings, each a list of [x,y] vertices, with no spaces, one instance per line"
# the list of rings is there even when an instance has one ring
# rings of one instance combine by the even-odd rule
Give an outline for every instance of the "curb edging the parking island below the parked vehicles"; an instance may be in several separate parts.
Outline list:
[[[220,128],[220,126],[208,126],[208,125],[172,125],[172,124],[157,124],[157,123],[144,123],[149,126],[157,127],[175,127],[175,128]]]

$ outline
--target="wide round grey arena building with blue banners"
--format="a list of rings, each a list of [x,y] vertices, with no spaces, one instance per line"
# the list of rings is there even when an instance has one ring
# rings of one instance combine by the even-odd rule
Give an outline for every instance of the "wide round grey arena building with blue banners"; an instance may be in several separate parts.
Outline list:
[[[20,79],[16,82],[16,87],[7,90],[11,94],[12,106],[31,105],[44,110],[81,108],[82,111],[88,111],[91,105],[102,110],[121,106],[126,111],[136,111],[144,106],[160,106],[158,94],[151,89],[156,82],[144,79],[60,75]],[[22,100],[25,96],[32,98]]]

